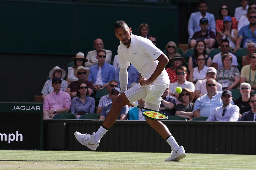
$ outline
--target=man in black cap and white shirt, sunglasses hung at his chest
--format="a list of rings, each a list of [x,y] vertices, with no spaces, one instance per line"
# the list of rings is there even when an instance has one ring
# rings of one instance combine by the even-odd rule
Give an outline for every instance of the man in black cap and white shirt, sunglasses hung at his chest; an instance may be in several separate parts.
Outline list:
[[[237,122],[239,119],[239,107],[231,104],[232,99],[230,90],[223,91],[221,95],[223,105],[214,109],[206,121]]]

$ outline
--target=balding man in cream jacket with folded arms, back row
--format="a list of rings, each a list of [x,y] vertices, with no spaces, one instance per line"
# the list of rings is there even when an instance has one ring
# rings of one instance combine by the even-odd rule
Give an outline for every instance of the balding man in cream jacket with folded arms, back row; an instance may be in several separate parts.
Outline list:
[[[89,51],[86,59],[88,59],[88,62],[85,63],[86,67],[91,67],[92,65],[98,64],[98,59],[97,59],[97,51],[99,50],[105,50],[104,44],[102,39],[97,38],[94,40],[94,48],[95,50]],[[112,51],[110,50],[105,50],[106,51],[106,63],[111,64],[111,58],[112,58]]]

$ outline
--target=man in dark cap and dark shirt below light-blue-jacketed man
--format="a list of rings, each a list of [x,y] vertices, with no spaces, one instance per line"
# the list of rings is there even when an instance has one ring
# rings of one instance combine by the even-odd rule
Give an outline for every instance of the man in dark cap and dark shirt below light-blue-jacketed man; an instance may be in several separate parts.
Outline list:
[[[199,23],[201,30],[195,32],[192,36],[191,41],[189,42],[190,47],[194,48],[197,41],[201,40],[205,42],[207,53],[210,53],[211,48],[213,48],[215,44],[215,33],[208,30],[209,22],[207,18],[201,18]]]

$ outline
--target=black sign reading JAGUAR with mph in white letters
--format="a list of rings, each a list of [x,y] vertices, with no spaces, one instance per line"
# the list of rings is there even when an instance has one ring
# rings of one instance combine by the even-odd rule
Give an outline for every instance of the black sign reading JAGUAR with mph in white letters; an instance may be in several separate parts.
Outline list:
[[[42,103],[0,103],[0,149],[42,149]]]

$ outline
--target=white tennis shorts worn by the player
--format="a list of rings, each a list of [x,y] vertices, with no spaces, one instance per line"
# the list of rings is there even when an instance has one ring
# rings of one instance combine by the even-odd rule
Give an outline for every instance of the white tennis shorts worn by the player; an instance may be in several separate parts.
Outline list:
[[[132,86],[132,88],[126,90],[124,93],[129,102],[135,102],[141,98],[148,103],[159,105],[161,104],[162,95],[165,92],[167,85],[144,85],[140,83]]]

